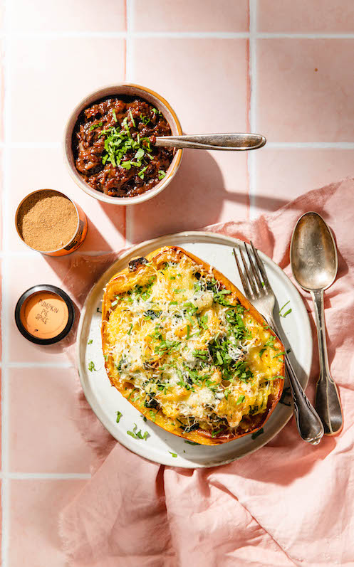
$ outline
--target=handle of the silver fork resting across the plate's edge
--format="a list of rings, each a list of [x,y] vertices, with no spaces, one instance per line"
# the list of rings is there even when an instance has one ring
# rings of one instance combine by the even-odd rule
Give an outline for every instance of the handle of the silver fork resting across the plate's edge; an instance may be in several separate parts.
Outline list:
[[[273,317],[267,317],[266,322],[274,330],[274,332],[276,332],[279,339],[281,339],[281,333],[279,332]],[[303,391],[303,387],[298,381],[288,354],[284,355],[284,359],[290,383],[291,395],[293,396],[293,410],[295,413],[298,433],[300,433],[301,438],[304,441],[307,441],[307,443],[311,443],[311,445],[318,445],[324,434],[321,419],[318,417],[318,413],[315,408],[313,408],[311,402],[306,396],[306,393]]]

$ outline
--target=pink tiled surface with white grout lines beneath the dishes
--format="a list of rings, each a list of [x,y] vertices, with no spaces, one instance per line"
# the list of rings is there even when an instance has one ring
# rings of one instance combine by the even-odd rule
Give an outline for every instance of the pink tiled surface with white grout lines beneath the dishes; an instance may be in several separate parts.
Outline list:
[[[47,348],[23,339],[14,324],[19,295],[38,282],[65,287],[80,253],[244,220],[353,175],[354,8],[349,0],[6,0],[4,11],[4,1],[2,564],[64,567],[58,514],[90,463],[72,420],[76,371],[65,349],[74,335]],[[185,152],[154,200],[127,210],[100,205],[68,175],[63,127],[80,97],[125,78],[165,95],[185,132],[251,128],[269,143],[252,154]],[[88,215],[76,256],[31,253],[14,230],[17,203],[46,187]]]

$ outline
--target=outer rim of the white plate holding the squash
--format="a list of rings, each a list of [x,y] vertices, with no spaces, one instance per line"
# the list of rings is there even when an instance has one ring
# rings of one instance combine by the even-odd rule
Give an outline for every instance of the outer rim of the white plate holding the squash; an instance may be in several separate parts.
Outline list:
[[[226,465],[227,463],[233,462],[234,460],[244,457],[245,455],[250,455],[252,452],[266,445],[266,443],[269,443],[269,441],[273,439],[275,435],[277,435],[283,429],[286,423],[288,423],[288,420],[290,420],[291,416],[293,415],[292,408],[285,405],[281,405],[280,408],[278,404],[278,406],[274,410],[274,413],[271,415],[271,417],[269,418],[269,420],[267,421],[264,427],[264,433],[262,435],[259,435],[259,437],[255,438],[254,440],[252,440],[251,447],[247,448],[246,450],[238,450],[237,444],[241,440],[246,440],[247,438],[251,438],[251,435],[246,435],[244,438],[231,441],[230,443],[226,443],[224,445],[217,445],[214,447],[203,446],[203,450],[207,449],[207,452],[209,453],[205,457],[199,457],[198,455],[198,450],[200,450],[200,447],[202,447],[202,445],[199,445],[197,447],[190,447],[189,445],[186,445],[185,450],[188,450],[186,457],[183,457],[182,455],[178,455],[178,459],[177,459],[175,457],[168,455],[168,452],[166,451],[166,455],[163,455],[162,457],[159,457],[157,459],[156,456],[151,454],[152,451],[149,448],[150,444],[148,442],[145,443],[140,440],[137,441],[126,434],[123,435],[123,430],[121,430],[121,428],[118,425],[115,425],[112,419],[108,419],[105,410],[103,408],[103,404],[100,403],[98,397],[95,395],[93,389],[90,386],[90,379],[92,379],[93,373],[88,372],[87,364],[85,362],[86,350],[88,347],[87,330],[90,325],[91,319],[93,319],[93,315],[97,311],[96,295],[100,295],[100,297],[102,297],[103,288],[105,287],[108,280],[110,280],[110,277],[112,277],[116,272],[122,270],[123,267],[126,267],[129,260],[131,258],[136,257],[137,255],[145,255],[151,252],[152,250],[155,250],[156,248],[160,248],[160,246],[164,246],[164,245],[180,245],[183,247],[183,245],[186,245],[188,243],[190,245],[194,243],[207,243],[210,245],[222,244],[230,248],[230,247],[234,247],[234,245],[238,243],[241,243],[241,240],[237,238],[231,238],[225,235],[220,235],[218,233],[208,233],[203,231],[186,231],[182,233],[160,236],[159,238],[154,238],[152,240],[147,240],[143,243],[133,246],[125,253],[120,255],[120,258],[118,258],[118,260],[115,260],[115,262],[108,268],[108,270],[106,270],[104,274],[100,277],[98,282],[90,290],[88,297],[85,300],[80,315],[80,321],[78,324],[78,335],[76,341],[76,364],[80,376],[80,383],[83,388],[83,392],[85,393],[85,398],[90,404],[93,412],[98,417],[98,419],[103,424],[103,426],[108,430],[108,432],[111,435],[113,435],[113,438],[115,438],[116,440],[119,441],[119,443],[127,447],[127,449],[131,450],[132,452],[135,452],[137,455],[140,455],[141,457],[145,457],[148,460],[151,460],[153,462],[158,462],[162,465],[183,467],[183,468],[214,467],[218,465]],[[271,258],[269,258],[266,254],[262,253],[261,251],[260,251],[260,255],[262,260],[266,264],[266,267],[271,267],[271,269],[274,270],[274,274],[276,274],[276,277],[279,278],[279,280],[281,280],[282,284],[288,290],[289,297],[291,297],[293,310],[296,310],[296,312],[298,312],[298,317],[299,319],[301,319],[300,337],[301,337],[301,345],[303,349],[305,349],[305,355],[303,356],[303,359],[301,359],[301,365],[299,365],[296,360],[293,360],[293,364],[295,364],[295,366],[298,366],[299,381],[301,382],[303,388],[306,388],[308,383],[308,375],[311,370],[313,341],[312,341],[311,325],[305,304],[303,303],[303,300],[298,290],[293,285],[293,283],[288,278],[288,276],[283,272],[283,270],[281,270],[281,268],[278,265],[276,265],[276,263],[274,263],[273,260],[271,260]],[[208,261],[208,258],[204,258],[204,259]],[[230,257],[230,264],[231,262],[232,260]],[[234,277],[234,280],[237,279],[238,279],[237,277]],[[239,284],[236,283],[236,285]],[[108,380],[107,377],[106,379]],[[149,430],[152,430],[154,433],[157,433],[157,435],[160,434],[160,437],[161,434],[165,435],[165,437],[167,437],[166,440],[167,447],[170,447],[172,450],[177,450],[176,447],[174,447],[174,445],[176,445],[176,440],[178,440],[179,442],[181,441],[180,438],[177,438],[175,435],[172,435],[171,433],[165,432],[164,430],[162,430],[153,423],[150,422],[141,423],[141,420],[139,420],[140,412],[138,412],[135,408],[133,408],[133,406],[131,406],[131,404],[127,402],[123,398],[123,396],[120,396],[120,398],[122,398],[122,401],[125,402],[127,406],[129,406],[129,409],[132,408],[132,410],[135,411],[136,413],[135,420],[139,424],[139,428],[142,427],[145,429],[147,428]],[[126,430],[124,433],[126,433]],[[219,454],[220,447],[224,447],[225,452],[227,453],[230,453],[231,450],[232,455],[228,455],[227,457],[226,455],[224,455],[223,457],[223,455]],[[196,450],[197,453],[195,452]],[[214,455],[213,452],[215,453]]]

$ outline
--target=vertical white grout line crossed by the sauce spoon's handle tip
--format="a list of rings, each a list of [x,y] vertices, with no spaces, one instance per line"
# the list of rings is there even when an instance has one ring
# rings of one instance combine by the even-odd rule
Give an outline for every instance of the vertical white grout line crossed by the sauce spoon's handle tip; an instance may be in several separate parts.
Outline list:
[[[256,16],[257,0],[249,0],[249,127],[256,132]],[[249,152],[247,167],[249,171],[249,218],[255,216],[254,196],[256,194],[256,154]]]

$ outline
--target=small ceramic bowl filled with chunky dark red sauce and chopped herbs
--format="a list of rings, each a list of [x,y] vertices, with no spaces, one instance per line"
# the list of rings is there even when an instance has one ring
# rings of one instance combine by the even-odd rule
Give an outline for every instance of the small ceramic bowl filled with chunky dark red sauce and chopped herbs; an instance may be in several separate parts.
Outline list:
[[[180,134],[167,100],[121,83],[96,90],[73,110],[64,153],[85,193],[105,203],[142,203],[165,189],[182,159],[181,149],[155,146],[156,137]]]

